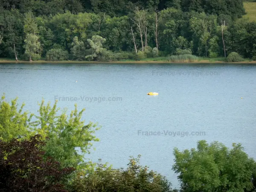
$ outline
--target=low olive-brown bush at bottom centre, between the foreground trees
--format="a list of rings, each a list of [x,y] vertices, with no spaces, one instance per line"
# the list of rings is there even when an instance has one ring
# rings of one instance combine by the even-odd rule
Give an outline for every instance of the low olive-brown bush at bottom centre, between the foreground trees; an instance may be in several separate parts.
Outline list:
[[[89,175],[79,175],[73,190],[77,192],[172,192],[171,183],[165,177],[154,171],[149,171],[147,166],[139,163],[137,158],[131,157],[128,168],[113,169],[98,163],[96,171]]]

